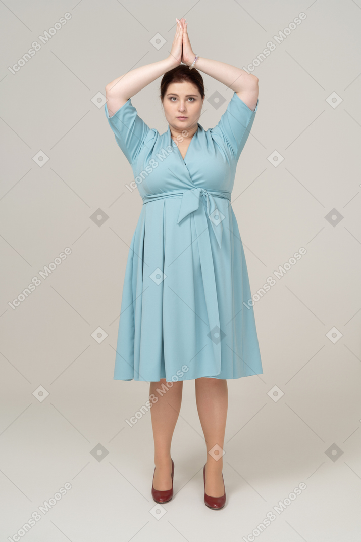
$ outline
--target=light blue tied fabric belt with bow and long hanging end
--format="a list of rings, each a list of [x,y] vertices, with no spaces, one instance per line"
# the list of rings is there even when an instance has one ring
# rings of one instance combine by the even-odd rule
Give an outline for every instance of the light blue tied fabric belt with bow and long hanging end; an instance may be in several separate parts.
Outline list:
[[[197,238],[202,235],[200,239],[201,242],[198,243],[198,249],[208,314],[209,333],[207,333],[207,336],[212,341],[213,350],[213,360],[209,360],[211,363],[209,376],[212,376],[219,375],[221,372],[220,343],[222,338],[225,336],[225,332],[224,330],[220,330],[219,327],[219,307],[207,217],[209,222],[212,224],[212,229],[214,231],[218,246],[221,247],[223,232],[222,221],[224,220],[225,216],[222,215],[222,213],[217,209],[214,196],[226,198],[231,201],[231,192],[221,190],[206,190],[205,188],[172,190],[170,192],[160,192],[146,195],[143,197],[143,205],[150,201],[154,201],[155,199],[181,197],[182,201],[177,220],[177,224],[179,224],[183,218],[186,218],[189,216],[189,214],[191,214],[191,212],[199,209],[200,196],[204,196],[206,198],[206,206],[202,204],[203,211],[194,213],[194,223]]]

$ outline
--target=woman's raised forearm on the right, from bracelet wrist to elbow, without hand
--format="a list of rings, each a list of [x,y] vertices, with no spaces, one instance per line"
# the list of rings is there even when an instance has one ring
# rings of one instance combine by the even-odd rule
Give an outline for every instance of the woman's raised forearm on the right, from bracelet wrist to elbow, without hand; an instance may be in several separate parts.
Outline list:
[[[187,65],[191,66],[193,60],[187,63]],[[195,62],[194,67],[200,72],[204,72],[213,77],[213,79],[220,81],[235,92],[241,92],[257,85],[258,78],[255,75],[248,74],[245,70],[236,68],[225,62],[205,59],[203,56],[200,56]]]

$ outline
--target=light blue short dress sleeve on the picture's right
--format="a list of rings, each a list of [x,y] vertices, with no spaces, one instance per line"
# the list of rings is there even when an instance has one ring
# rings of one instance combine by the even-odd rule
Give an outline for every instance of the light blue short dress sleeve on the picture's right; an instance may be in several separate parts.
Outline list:
[[[212,135],[222,138],[226,145],[231,147],[237,160],[246,144],[248,135],[250,135],[257,109],[258,100],[254,111],[251,111],[234,92],[226,111],[222,114],[218,124],[212,128]]]

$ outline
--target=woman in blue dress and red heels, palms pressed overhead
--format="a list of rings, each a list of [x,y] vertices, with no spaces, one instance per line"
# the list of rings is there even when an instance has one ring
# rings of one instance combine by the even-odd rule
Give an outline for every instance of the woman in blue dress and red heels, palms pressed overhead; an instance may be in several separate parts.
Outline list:
[[[176,21],[167,59],[106,86],[108,122],[143,199],[124,278],[114,378],[150,381],[156,502],[173,496],[170,444],[183,380],[195,380],[207,450],[204,501],[219,509],[226,501],[227,378],[263,372],[245,255],[230,203],[237,162],[258,107],[258,79],[196,57],[188,23]],[[205,98],[198,70],[234,91],[218,125],[207,131],[198,122]],[[159,134],[137,115],[130,97],[162,74],[169,126]]]

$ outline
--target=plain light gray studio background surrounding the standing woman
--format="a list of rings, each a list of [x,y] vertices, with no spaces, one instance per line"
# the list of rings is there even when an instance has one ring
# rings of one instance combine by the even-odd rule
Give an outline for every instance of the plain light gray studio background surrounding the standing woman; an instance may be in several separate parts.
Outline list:
[[[67,11],[67,24],[11,74]],[[147,401],[148,384],[113,380],[142,200],[124,188],[132,169],[108,126],[104,87],[165,58],[175,17],[187,18],[195,53],[243,67],[300,12],[306,19],[253,72],[259,108],[232,206],[253,294],[300,247],[307,253],[254,306],[264,374],[228,380],[227,506],[214,513],[203,502],[205,442],[188,381],[172,447],[175,496],[159,507],[150,412],[134,427],[124,421]],[[10,1],[0,14],[1,539],[70,482],[25,540],[239,541],[270,511],[256,539],[359,540],[360,5]],[[150,43],[157,33],[166,40],[159,50]],[[226,99],[218,110],[205,100],[207,129],[233,91],[202,75],[206,98]],[[162,133],[160,80],[132,102]],[[284,158],[277,167],[274,151]],[[94,213],[108,218],[99,226]],[[67,259],[12,309],[65,247]],[[91,336],[99,327],[100,342]],[[306,489],[277,514],[301,482]]]

